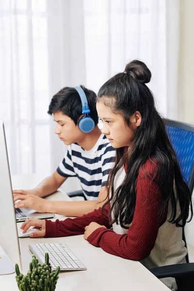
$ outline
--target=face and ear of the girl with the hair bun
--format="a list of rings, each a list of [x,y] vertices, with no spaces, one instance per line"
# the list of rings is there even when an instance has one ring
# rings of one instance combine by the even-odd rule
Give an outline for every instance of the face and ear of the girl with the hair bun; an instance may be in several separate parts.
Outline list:
[[[122,115],[113,113],[110,107],[104,105],[103,101],[97,101],[97,114],[103,122],[102,133],[106,134],[106,137],[111,142],[114,148],[123,146],[130,146],[135,131],[141,124],[141,114],[137,111],[130,117],[130,123],[134,130],[131,130],[125,123]]]

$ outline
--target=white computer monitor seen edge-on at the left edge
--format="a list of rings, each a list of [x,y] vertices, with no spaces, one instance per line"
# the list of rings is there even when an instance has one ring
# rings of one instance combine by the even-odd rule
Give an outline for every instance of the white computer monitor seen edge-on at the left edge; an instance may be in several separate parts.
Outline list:
[[[21,265],[16,216],[3,120],[0,119],[0,246],[13,265]]]

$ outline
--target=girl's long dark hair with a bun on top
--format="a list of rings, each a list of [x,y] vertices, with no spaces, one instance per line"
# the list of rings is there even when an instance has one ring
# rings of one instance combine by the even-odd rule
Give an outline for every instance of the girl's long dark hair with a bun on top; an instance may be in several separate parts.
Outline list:
[[[109,174],[109,200],[111,202],[110,217],[113,223],[127,228],[132,222],[136,203],[136,179],[140,168],[150,160],[157,165],[154,177],[162,194],[161,220],[165,217],[169,201],[172,213],[169,222],[176,226],[184,226],[193,216],[192,197],[187,184],[182,178],[175,151],[168,139],[162,118],[157,112],[152,92],[146,86],[151,79],[147,66],[138,60],[126,65],[125,72],[119,73],[107,81],[99,89],[97,102],[101,100],[113,112],[121,114],[126,125],[131,128],[130,116],[139,111],[142,115],[141,125],[135,132],[130,154],[124,148],[116,149],[116,162]],[[127,173],[122,184],[115,190],[114,178],[118,170],[127,163]],[[149,175],[147,175],[149,176]],[[177,211],[178,204],[180,212]],[[113,213],[113,216],[112,214]],[[189,221],[190,221],[189,220]]]

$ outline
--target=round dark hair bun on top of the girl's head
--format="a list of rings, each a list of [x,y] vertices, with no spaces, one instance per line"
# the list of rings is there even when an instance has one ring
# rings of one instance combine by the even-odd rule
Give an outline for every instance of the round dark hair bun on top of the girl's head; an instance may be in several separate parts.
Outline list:
[[[125,73],[141,83],[149,83],[151,79],[151,72],[146,64],[138,60],[131,61],[127,64]]]

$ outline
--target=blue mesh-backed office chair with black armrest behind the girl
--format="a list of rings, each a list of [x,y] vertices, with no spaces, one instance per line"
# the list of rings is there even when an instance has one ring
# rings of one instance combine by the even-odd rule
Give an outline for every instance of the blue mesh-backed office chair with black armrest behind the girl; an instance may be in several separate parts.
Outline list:
[[[190,192],[194,190],[194,126],[183,122],[164,119],[166,131],[176,152],[180,170]],[[183,240],[186,244],[183,228]],[[194,291],[194,263],[163,266],[150,269],[157,278],[174,277],[178,291]]]

